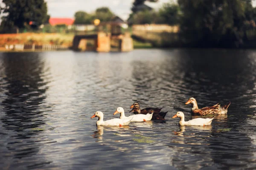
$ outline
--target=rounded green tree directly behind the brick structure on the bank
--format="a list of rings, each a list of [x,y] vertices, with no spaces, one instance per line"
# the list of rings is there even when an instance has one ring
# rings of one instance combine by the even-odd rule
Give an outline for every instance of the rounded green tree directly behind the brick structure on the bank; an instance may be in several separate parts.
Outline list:
[[[108,7],[97,8],[94,14],[94,19],[99,19],[101,22],[111,21],[113,17],[114,14]]]

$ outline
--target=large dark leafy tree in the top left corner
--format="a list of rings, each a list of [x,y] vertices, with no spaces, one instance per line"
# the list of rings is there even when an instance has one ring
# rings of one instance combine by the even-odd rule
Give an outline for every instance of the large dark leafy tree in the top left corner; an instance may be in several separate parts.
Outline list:
[[[47,21],[47,3],[44,0],[2,0],[5,4],[2,19],[9,25],[24,28],[30,21],[40,26]]]

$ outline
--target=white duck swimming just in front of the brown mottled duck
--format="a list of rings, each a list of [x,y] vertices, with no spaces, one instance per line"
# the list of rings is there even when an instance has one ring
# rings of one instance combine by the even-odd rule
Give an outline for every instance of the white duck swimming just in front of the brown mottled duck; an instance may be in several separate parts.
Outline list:
[[[177,112],[172,118],[175,118],[175,117],[179,117],[180,118],[180,126],[205,126],[205,125],[211,125],[212,123],[212,119],[210,118],[196,118],[196,119],[192,119],[192,120],[189,120],[187,122],[185,122],[184,120],[184,113],[183,112]]]

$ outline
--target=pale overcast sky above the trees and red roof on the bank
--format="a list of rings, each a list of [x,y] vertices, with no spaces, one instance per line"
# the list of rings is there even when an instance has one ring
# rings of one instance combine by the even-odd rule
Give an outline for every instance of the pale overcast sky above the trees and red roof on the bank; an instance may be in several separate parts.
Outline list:
[[[131,6],[134,0],[45,0],[48,6],[48,14],[51,17],[74,17],[76,11],[86,11],[88,13],[95,11],[96,8],[107,6],[116,15],[126,20],[131,13]],[[147,3],[153,8],[160,8],[163,3],[172,0],[159,0],[158,3]],[[177,0],[174,0],[177,2]],[[0,5],[2,0],[0,0]],[[253,0],[253,6],[256,6],[256,0]]]

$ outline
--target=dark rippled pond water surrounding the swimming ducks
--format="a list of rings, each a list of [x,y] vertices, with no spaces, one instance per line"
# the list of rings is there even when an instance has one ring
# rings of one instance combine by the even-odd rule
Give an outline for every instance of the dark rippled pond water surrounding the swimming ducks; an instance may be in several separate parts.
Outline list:
[[[232,102],[211,126],[177,111]],[[165,122],[96,127],[140,102]],[[0,169],[256,169],[256,50],[0,53]]]

